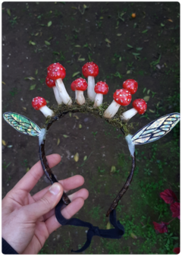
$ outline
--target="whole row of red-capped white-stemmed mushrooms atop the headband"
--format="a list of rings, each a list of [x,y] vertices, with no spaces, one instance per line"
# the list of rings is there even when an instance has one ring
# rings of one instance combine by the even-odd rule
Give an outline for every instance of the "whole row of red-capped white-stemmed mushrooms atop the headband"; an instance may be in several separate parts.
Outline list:
[[[52,87],[55,93],[55,100],[58,105],[65,104],[71,106],[73,104],[71,97],[68,95],[64,87],[63,79],[66,76],[65,68],[60,63],[54,63],[47,68],[48,74],[45,82],[48,87]],[[99,74],[99,67],[94,62],[87,62],[82,68],[83,76],[87,77],[88,83],[83,78],[77,78],[71,84],[71,90],[75,91],[75,100],[77,104],[83,105],[86,103],[83,91],[87,89],[87,96],[93,102],[93,108],[102,105],[103,95],[108,93],[108,84],[99,81],[95,84],[95,77]],[[120,106],[127,106],[130,104],[132,94],[137,92],[138,84],[133,79],[128,79],[123,83],[123,89],[116,90],[113,95],[113,101],[105,109],[103,117],[111,119],[118,112]],[[37,96],[32,101],[32,106],[36,110],[40,110],[45,117],[54,116],[52,109],[46,106],[46,101],[42,97]],[[143,115],[146,112],[147,103],[143,99],[133,101],[133,109],[127,110],[121,115],[122,120],[129,120],[136,115],[137,112]]]

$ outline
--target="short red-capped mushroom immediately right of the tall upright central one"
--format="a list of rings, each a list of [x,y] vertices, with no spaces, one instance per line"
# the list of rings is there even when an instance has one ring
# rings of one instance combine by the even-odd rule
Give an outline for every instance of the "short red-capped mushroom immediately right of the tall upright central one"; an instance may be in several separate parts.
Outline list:
[[[95,93],[97,93],[97,94],[96,94],[96,98],[95,98],[93,107],[96,108],[97,106],[101,106],[102,101],[103,101],[103,95],[108,93],[108,84],[100,81],[100,82],[96,83],[94,90],[95,90]]]

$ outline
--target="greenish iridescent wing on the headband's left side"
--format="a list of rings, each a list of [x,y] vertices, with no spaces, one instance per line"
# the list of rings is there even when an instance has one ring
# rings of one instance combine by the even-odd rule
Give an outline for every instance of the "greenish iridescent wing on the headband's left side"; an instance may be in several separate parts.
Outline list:
[[[39,136],[40,128],[24,115],[19,115],[13,112],[5,112],[3,117],[9,125],[22,134],[27,134],[33,137]]]

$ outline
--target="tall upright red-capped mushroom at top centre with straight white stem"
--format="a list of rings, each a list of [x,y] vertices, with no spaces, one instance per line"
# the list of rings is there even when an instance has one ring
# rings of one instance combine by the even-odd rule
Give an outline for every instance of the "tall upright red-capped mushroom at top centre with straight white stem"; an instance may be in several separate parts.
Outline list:
[[[94,91],[95,77],[99,74],[99,67],[94,62],[87,62],[83,65],[82,73],[84,77],[88,77],[87,95],[89,100],[94,101],[96,98],[96,93]]]

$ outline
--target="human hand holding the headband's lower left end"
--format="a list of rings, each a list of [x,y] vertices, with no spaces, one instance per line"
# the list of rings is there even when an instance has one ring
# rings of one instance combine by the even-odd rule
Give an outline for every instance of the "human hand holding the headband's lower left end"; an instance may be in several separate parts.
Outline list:
[[[61,156],[52,154],[47,156],[52,168],[61,161]],[[42,191],[30,195],[30,191],[44,174],[41,163],[36,163],[29,172],[5,198],[0,201],[0,237],[5,239],[18,254],[38,254],[49,235],[61,225],[55,217],[55,206],[61,199],[63,191],[78,188],[84,183],[80,175],[54,183]],[[82,188],[68,197],[68,204],[61,214],[70,219],[88,198],[89,192]]]

